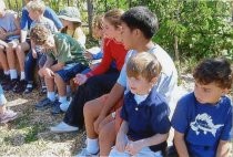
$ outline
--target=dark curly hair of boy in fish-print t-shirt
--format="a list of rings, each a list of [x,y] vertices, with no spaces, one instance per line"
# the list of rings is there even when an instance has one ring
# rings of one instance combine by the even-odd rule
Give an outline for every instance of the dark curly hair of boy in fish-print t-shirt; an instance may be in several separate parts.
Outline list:
[[[233,73],[225,59],[206,59],[195,67],[193,77],[200,84],[214,82],[221,88],[231,88]]]

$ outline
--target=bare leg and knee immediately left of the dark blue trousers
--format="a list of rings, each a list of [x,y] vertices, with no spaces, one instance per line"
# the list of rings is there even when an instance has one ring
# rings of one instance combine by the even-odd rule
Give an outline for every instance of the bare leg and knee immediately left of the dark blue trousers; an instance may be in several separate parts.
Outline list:
[[[24,72],[26,51],[28,51],[29,49],[30,45],[27,42],[20,43],[16,49],[21,72]]]

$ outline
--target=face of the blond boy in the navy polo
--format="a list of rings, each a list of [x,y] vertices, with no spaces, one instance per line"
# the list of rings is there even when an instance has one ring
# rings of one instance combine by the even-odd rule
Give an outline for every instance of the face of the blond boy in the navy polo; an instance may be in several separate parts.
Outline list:
[[[141,75],[139,75],[136,78],[128,77],[128,83],[129,83],[130,91],[133,94],[138,94],[138,95],[149,94],[149,92],[151,91],[151,88],[154,84],[154,82],[152,82],[152,81],[149,82]]]

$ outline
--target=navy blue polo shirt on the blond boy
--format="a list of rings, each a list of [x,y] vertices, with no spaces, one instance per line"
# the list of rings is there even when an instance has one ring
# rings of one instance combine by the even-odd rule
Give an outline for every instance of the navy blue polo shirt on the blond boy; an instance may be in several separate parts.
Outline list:
[[[128,122],[128,137],[132,140],[149,138],[155,134],[166,134],[170,130],[170,109],[161,94],[153,88],[145,101],[136,104],[134,95],[124,95],[121,117]],[[154,151],[164,149],[164,143],[151,146]]]

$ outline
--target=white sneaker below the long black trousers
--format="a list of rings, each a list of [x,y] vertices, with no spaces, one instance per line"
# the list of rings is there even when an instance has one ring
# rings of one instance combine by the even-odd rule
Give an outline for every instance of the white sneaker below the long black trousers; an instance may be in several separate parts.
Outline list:
[[[77,132],[79,127],[70,126],[64,122],[59,123],[54,127],[50,127],[50,130],[53,133],[67,133],[67,132]]]

